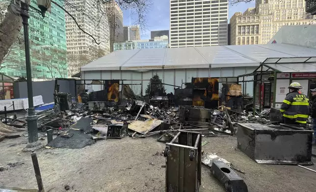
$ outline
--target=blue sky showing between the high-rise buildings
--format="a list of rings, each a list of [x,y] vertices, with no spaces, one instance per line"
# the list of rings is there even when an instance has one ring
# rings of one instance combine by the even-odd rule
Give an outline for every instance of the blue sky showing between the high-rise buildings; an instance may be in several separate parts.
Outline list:
[[[141,39],[150,39],[151,30],[166,30],[169,29],[169,4],[170,0],[152,0],[153,4],[147,15],[147,28],[142,29]],[[235,12],[244,12],[249,7],[255,7],[255,1],[250,3],[238,3],[237,5],[229,5],[228,21]],[[123,10],[124,25],[134,24],[133,17],[130,15],[130,10]]]

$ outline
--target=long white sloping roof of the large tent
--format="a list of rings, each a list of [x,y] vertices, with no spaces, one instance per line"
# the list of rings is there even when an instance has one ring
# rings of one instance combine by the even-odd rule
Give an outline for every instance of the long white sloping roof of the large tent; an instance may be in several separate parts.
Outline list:
[[[268,57],[307,56],[316,56],[316,49],[287,44],[132,49],[111,52],[81,71],[250,67]]]

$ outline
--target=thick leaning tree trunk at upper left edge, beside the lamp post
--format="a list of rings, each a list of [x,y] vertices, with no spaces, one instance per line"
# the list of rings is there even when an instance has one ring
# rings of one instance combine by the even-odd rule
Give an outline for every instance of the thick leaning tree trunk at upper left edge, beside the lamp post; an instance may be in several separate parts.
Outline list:
[[[8,7],[5,17],[0,24],[0,63],[9,48],[17,40],[22,28],[21,16],[15,15],[11,7],[12,5]]]

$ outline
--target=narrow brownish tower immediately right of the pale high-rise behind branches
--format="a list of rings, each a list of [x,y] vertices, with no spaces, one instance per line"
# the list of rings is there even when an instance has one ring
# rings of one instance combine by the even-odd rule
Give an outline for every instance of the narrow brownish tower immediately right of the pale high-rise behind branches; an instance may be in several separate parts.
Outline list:
[[[105,3],[105,12],[110,30],[110,51],[114,51],[114,43],[124,42],[123,11],[115,0]]]

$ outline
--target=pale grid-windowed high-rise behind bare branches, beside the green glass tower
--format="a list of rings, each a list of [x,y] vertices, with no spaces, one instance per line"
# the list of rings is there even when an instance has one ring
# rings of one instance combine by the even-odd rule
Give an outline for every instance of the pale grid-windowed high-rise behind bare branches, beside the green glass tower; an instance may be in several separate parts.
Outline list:
[[[74,6],[76,5],[76,6]],[[86,65],[91,60],[97,59],[107,54],[110,50],[109,24],[107,17],[94,7],[94,0],[68,0],[65,8],[75,16],[80,27],[93,35],[93,39],[83,33],[75,21],[65,14],[66,18],[66,37],[67,37],[67,55],[70,74],[80,71],[80,67]],[[95,55],[100,52],[101,55]]]

